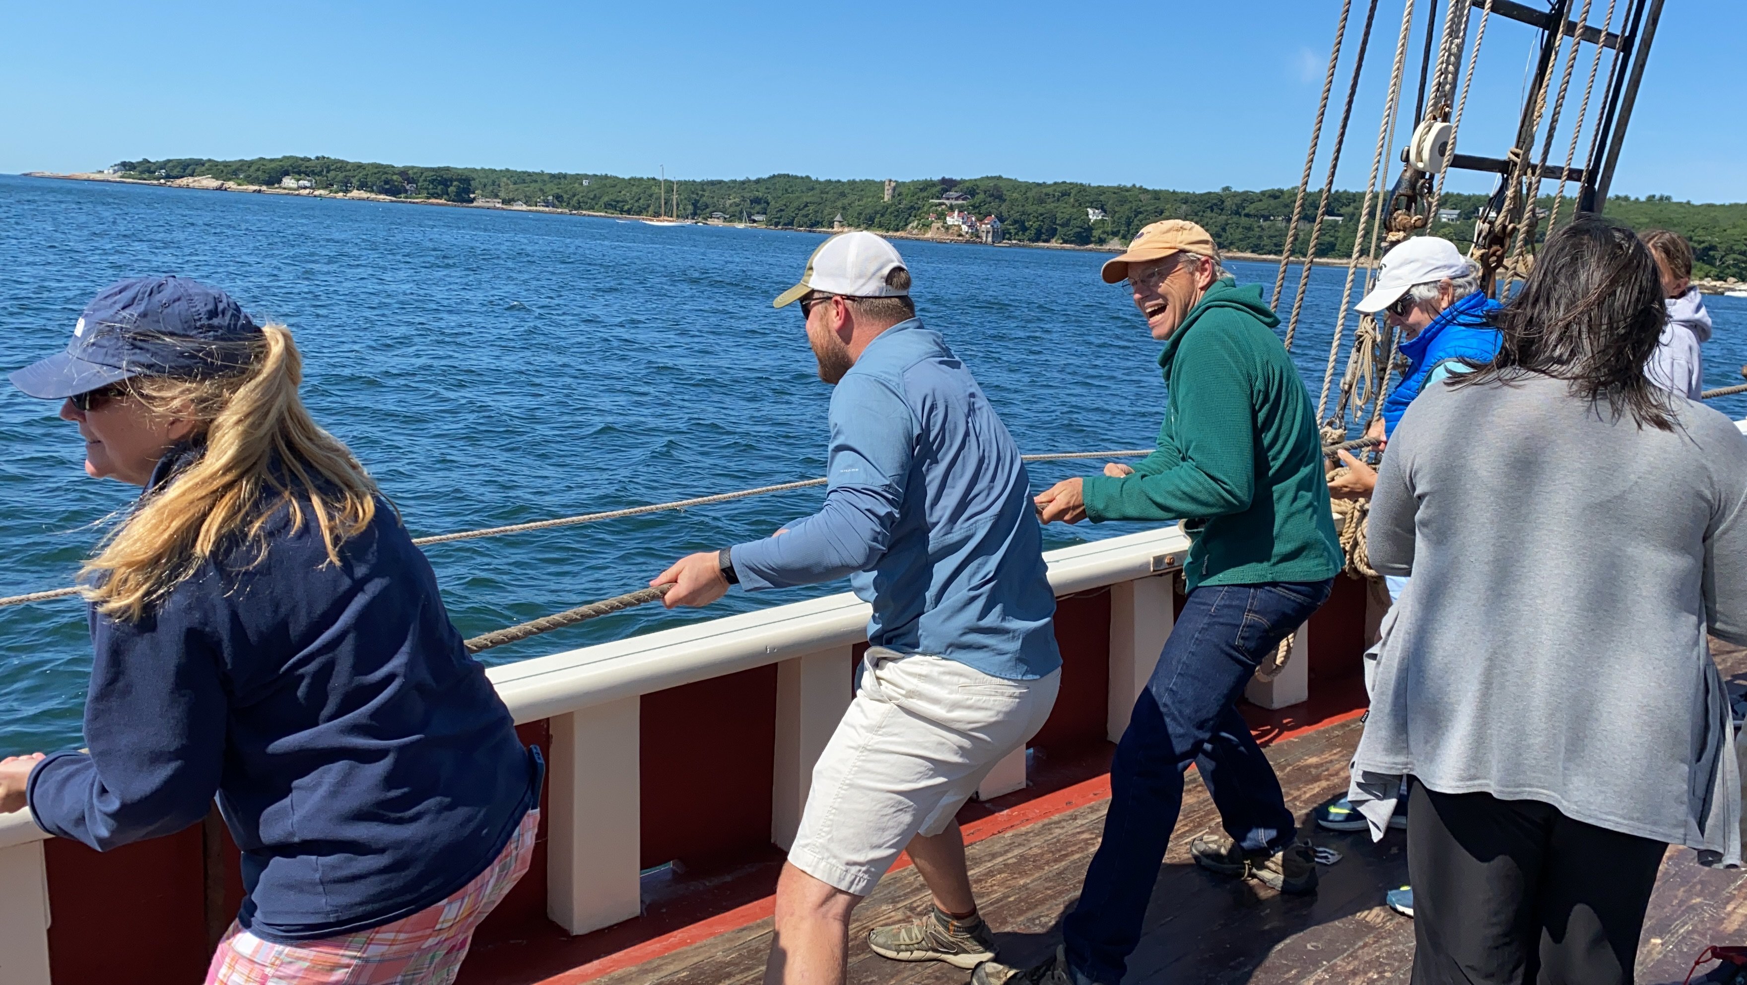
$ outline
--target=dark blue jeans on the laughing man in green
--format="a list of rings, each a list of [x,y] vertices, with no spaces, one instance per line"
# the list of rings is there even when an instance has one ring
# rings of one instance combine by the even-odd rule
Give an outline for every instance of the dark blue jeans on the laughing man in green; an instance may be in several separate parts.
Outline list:
[[[1190,763],[1200,770],[1226,833],[1246,852],[1272,854],[1296,837],[1281,781],[1237,699],[1256,664],[1310,618],[1333,585],[1205,585],[1183,603],[1116,744],[1104,840],[1064,924],[1067,962],[1083,978],[1122,982],[1183,809]]]

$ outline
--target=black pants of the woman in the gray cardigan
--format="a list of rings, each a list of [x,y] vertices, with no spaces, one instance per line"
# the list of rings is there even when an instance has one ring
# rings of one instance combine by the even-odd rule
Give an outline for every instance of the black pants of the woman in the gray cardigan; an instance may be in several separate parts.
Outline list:
[[[1408,816],[1413,985],[1630,985],[1667,845],[1539,800],[1438,793]]]

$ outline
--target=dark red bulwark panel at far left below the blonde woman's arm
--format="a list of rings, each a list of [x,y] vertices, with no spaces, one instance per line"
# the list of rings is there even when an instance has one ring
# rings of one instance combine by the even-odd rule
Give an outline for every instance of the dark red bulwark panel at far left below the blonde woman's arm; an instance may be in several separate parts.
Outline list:
[[[206,975],[201,826],[94,852],[42,844],[56,985],[189,985]]]

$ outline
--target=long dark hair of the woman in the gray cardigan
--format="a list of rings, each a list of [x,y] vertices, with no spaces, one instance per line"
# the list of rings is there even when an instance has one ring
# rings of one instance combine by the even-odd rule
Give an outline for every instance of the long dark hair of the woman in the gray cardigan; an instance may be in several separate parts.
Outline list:
[[[1674,430],[1667,391],[1644,375],[1668,311],[1656,260],[1630,231],[1583,217],[1548,236],[1534,271],[1492,325],[1499,355],[1454,386],[1509,381],[1523,372],[1564,379],[1572,396],[1607,403],[1612,417]]]

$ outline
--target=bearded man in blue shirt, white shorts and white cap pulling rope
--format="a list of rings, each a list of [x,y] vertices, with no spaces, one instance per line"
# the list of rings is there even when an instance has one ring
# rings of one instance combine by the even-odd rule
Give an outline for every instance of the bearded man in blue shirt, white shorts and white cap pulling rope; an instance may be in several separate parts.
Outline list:
[[[681,559],[666,604],[849,576],[874,606],[861,683],[812,774],[777,882],[765,982],[840,983],[849,913],[908,851],[935,912],[879,927],[898,961],[975,968],[994,940],[954,821],[1055,706],[1060,655],[1019,447],[910,302],[870,232],[826,239],[776,307],[800,302],[832,395],[825,506],[776,536]]]

